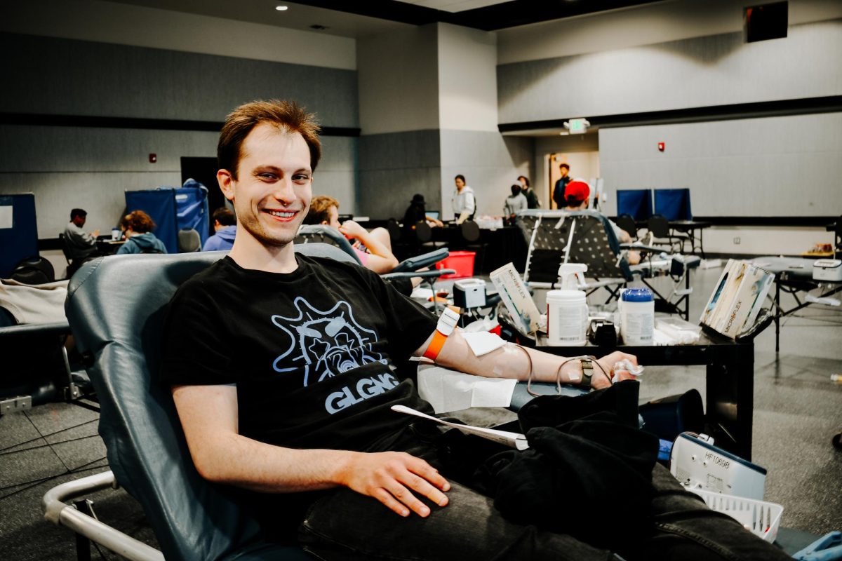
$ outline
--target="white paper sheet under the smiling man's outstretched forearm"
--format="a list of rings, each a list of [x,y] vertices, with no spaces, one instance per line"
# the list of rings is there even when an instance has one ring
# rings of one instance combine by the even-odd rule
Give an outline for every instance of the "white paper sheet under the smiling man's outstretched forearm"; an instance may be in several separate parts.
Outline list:
[[[434,366],[418,367],[418,394],[436,413],[448,413],[470,407],[508,407],[517,380],[482,378]]]

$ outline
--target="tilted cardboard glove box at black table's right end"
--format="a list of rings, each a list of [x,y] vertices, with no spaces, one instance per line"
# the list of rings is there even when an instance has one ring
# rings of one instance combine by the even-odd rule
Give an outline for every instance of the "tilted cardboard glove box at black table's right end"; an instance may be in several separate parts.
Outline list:
[[[754,324],[774,280],[749,262],[729,259],[699,322],[735,339]]]

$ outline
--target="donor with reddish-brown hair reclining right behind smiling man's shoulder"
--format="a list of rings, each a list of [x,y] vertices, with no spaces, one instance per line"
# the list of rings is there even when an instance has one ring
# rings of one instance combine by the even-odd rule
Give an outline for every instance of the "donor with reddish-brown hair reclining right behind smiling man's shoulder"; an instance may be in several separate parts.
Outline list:
[[[310,210],[304,217],[304,224],[328,225],[353,241],[354,251],[360,257],[363,267],[375,273],[389,273],[397,267],[397,257],[392,254],[392,240],[386,228],[365,230],[354,220],[339,224],[339,202],[333,197],[319,195],[312,198]]]

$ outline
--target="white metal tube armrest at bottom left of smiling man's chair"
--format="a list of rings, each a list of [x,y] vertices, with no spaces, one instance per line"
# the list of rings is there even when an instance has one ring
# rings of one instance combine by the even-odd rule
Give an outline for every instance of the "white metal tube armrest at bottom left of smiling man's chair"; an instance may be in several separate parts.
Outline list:
[[[70,528],[73,532],[109,548],[118,555],[132,561],[163,561],[163,553],[146,543],[127,536],[99,520],[77,511],[66,500],[88,495],[108,487],[116,488],[114,474],[110,471],[88,475],[82,479],[68,481],[48,490],[41,500],[44,517],[57,526]]]

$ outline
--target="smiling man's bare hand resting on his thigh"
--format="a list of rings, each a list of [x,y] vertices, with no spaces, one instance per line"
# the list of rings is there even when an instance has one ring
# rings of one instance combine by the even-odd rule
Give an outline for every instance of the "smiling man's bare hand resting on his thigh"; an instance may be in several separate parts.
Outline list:
[[[447,505],[450,484],[429,463],[403,452],[355,453],[340,474],[339,483],[361,495],[381,501],[401,516],[410,511],[429,516],[429,507],[417,493],[436,505]]]

